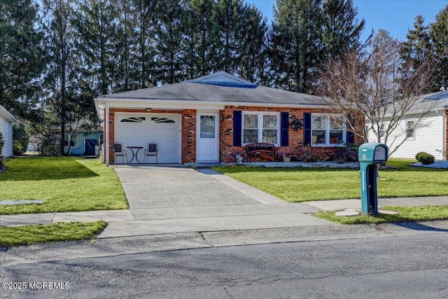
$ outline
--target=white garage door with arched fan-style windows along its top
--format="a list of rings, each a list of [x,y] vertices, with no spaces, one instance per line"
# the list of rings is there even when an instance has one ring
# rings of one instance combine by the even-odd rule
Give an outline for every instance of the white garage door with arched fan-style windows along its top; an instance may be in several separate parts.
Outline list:
[[[117,113],[116,136],[117,142],[126,146],[143,146],[146,148],[149,142],[159,144],[159,163],[181,162],[181,121],[176,114],[154,113]],[[132,158],[132,153],[128,158]],[[139,160],[144,162],[144,149],[138,153]],[[148,157],[149,163],[155,163],[155,158]],[[133,161],[135,162],[135,161]]]

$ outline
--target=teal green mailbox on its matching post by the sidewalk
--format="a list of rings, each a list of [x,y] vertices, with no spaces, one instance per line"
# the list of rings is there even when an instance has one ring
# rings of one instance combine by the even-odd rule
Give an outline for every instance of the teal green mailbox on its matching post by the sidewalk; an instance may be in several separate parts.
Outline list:
[[[377,170],[387,161],[386,144],[363,144],[358,149],[360,162],[361,209],[363,213],[378,215]]]

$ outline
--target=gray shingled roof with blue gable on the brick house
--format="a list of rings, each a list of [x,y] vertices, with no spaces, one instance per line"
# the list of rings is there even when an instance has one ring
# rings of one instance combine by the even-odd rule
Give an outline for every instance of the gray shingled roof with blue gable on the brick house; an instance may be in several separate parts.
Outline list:
[[[284,105],[325,105],[320,97],[298,92],[267,88],[250,83],[231,74],[218,73],[203,76],[183,83],[145,88],[130,92],[102,95],[97,100],[144,100],[157,102],[193,101],[215,104],[277,104]]]

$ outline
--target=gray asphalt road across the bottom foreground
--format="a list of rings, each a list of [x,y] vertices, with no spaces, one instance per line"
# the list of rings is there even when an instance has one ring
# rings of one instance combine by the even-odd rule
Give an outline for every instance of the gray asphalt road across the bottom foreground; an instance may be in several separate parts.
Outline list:
[[[2,263],[1,298],[448,298],[446,231],[64,259],[62,246],[22,249]]]

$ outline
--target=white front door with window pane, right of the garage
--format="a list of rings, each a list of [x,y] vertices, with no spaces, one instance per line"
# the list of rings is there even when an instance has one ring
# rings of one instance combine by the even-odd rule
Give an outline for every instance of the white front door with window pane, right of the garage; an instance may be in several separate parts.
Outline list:
[[[197,162],[219,161],[218,113],[197,113]]]

